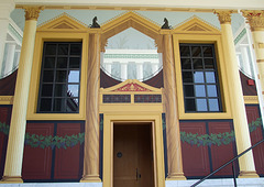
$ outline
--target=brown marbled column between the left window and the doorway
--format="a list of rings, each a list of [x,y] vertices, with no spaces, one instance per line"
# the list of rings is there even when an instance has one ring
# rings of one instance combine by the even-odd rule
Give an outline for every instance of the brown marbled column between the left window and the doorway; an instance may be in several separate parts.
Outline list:
[[[99,87],[100,29],[91,29],[89,36],[88,81],[86,103],[84,175],[80,182],[101,182],[99,178]]]

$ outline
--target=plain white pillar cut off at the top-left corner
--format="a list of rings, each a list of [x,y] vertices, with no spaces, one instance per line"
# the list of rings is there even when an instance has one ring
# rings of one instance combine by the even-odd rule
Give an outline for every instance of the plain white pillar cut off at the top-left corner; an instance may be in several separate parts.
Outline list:
[[[0,2],[0,73],[2,72],[3,53],[7,41],[10,13],[14,9],[13,0],[1,0]]]

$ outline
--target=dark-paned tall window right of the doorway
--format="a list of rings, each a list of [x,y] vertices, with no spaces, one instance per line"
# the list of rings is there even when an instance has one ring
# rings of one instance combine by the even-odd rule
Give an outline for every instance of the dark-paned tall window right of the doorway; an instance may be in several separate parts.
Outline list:
[[[179,48],[185,111],[222,111],[213,45],[180,44]]]

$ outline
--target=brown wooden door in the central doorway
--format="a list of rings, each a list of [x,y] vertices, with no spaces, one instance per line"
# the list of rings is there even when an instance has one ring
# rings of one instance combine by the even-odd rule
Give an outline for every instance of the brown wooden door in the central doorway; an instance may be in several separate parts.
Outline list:
[[[113,129],[113,187],[153,187],[150,124],[116,124]]]

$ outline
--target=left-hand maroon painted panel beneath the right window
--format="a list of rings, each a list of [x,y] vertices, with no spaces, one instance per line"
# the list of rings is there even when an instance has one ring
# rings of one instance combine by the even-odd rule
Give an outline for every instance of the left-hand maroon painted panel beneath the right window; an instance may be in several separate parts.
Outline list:
[[[186,133],[206,134],[205,122],[180,122],[180,131]],[[210,174],[207,146],[190,145],[182,142],[183,165],[185,176],[206,176]]]

